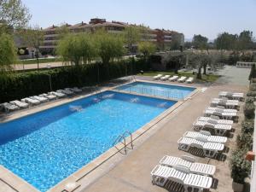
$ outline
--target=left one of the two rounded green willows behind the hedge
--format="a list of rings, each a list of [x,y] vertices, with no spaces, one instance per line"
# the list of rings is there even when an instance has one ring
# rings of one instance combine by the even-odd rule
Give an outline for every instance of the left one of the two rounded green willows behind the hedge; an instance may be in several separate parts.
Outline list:
[[[60,40],[57,53],[64,61],[71,61],[79,66],[82,61],[86,64],[96,57],[96,45],[88,33],[69,34]]]

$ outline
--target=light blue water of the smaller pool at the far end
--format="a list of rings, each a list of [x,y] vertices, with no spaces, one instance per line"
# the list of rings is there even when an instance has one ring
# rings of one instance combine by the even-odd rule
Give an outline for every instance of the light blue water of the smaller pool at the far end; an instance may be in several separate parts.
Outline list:
[[[116,90],[125,90],[130,93],[139,93],[148,96],[161,96],[180,100],[186,98],[186,96],[189,96],[189,94],[195,90],[195,88],[171,84],[135,82],[119,86],[116,88]]]

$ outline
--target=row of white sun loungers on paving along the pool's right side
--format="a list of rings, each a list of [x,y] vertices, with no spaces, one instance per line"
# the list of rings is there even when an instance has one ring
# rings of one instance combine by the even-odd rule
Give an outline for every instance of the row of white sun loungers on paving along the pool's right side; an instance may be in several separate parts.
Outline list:
[[[223,152],[224,143],[228,140],[224,134],[232,129],[234,123],[232,118],[237,117],[237,109],[229,108],[229,105],[219,107],[219,103],[215,102],[236,103],[239,107],[239,101],[236,101],[238,95],[241,101],[242,94],[236,94],[236,96],[232,94],[229,99],[224,98],[224,100],[222,96],[219,96],[220,99],[212,99],[213,105],[206,109],[205,116],[196,119],[193,125],[195,131],[186,131],[177,141],[178,148],[184,151],[189,151],[189,148],[193,147],[200,148],[209,158]],[[214,115],[215,113],[217,115]],[[213,136],[210,131],[204,131],[205,128],[215,131],[216,136]],[[204,189],[211,188],[212,176],[215,172],[215,166],[196,163],[193,157],[183,155],[179,158],[165,155],[160,160],[160,165],[154,167],[151,176],[152,183],[160,186],[164,186],[167,180],[171,180],[183,184],[185,192],[188,192],[189,188],[191,191],[197,189],[202,192]]]

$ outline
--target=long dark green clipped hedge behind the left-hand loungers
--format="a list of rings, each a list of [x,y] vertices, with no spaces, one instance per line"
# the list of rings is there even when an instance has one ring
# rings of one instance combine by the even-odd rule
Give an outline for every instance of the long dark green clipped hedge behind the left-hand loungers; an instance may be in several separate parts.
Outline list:
[[[87,86],[97,84],[99,68],[99,82],[131,75],[140,70],[147,70],[148,64],[142,60],[119,61],[109,64],[109,77],[105,73],[107,68],[102,63],[86,64],[79,67],[60,67],[55,69],[13,73],[0,76],[0,103],[21,99],[49,92],[49,77],[52,90],[59,90],[73,86]]]

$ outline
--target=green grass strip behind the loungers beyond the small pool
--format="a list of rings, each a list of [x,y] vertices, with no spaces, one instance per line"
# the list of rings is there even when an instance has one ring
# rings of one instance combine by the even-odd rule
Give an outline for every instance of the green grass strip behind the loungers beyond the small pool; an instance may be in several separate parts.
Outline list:
[[[155,71],[148,71],[148,72],[144,72],[143,74],[138,73],[138,76],[150,76],[153,77],[157,74],[163,74],[163,75],[171,75],[171,77],[175,74],[174,72],[155,72]],[[196,79],[196,74],[193,75],[193,73],[191,72],[179,72],[178,76],[185,76],[185,77],[194,77],[195,78],[195,82],[198,83],[212,83],[214,81],[216,81],[219,76],[218,75],[214,75],[214,74],[207,74],[207,75],[203,75],[202,74],[202,79]]]

